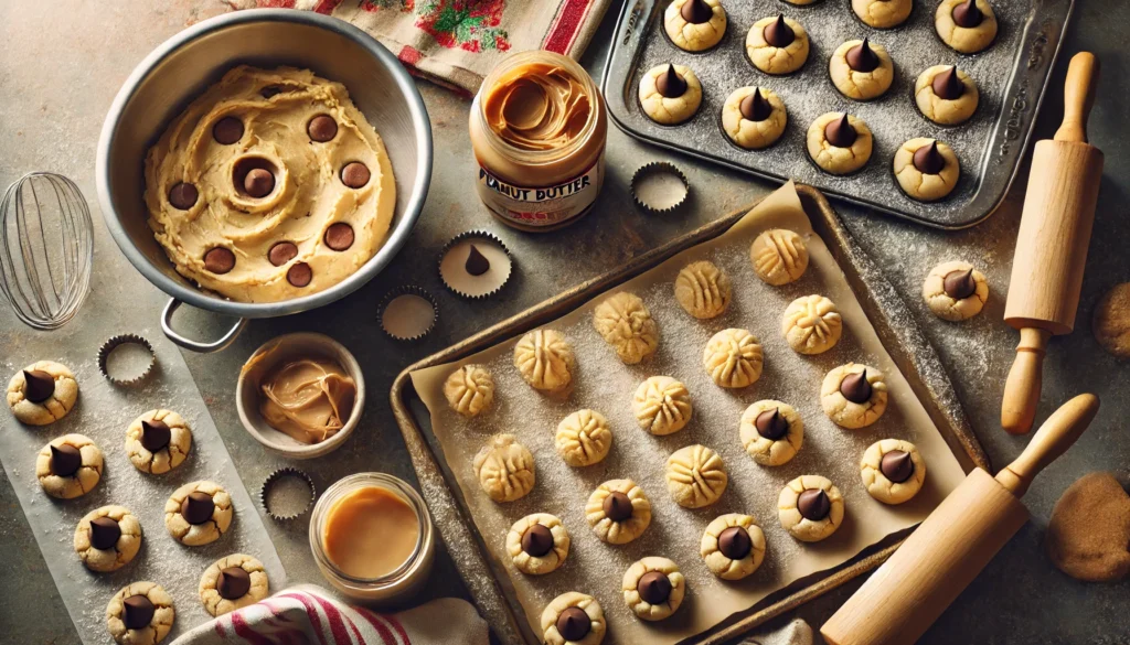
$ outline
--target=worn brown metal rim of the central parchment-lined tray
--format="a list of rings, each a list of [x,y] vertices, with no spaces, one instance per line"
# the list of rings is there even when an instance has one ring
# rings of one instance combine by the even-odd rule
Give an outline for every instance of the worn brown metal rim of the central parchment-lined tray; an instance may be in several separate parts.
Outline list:
[[[827,199],[811,186],[798,185],[797,192],[812,228],[843,270],[879,340],[906,376],[915,395],[941,430],[962,467],[966,471],[973,465],[990,470],[989,457],[970,428],[938,355],[912,322],[913,317],[906,311],[902,298],[843,228]],[[514,600],[513,594],[508,593],[508,576],[502,565],[489,556],[481,535],[475,529],[455,478],[447,469],[446,460],[443,459],[443,450],[432,434],[428,410],[416,393],[410,374],[425,367],[459,360],[546,324],[668,258],[721,235],[754,206],[738,209],[722,219],[631,260],[615,271],[593,278],[434,354],[407,367],[392,384],[392,411],[408,446],[420,491],[444,543],[449,546],[463,583],[480,613],[503,643],[536,645],[541,639],[530,630],[521,605]],[[905,537],[906,532],[896,533],[840,567],[801,578],[696,636],[694,642],[707,645],[728,642],[782,612],[812,600],[879,566]]]

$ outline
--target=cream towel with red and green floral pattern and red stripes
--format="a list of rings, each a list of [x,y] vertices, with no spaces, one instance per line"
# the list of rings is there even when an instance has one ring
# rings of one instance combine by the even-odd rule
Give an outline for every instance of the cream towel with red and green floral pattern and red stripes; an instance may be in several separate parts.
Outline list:
[[[318,11],[368,32],[417,76],[467,96],[508,51],[577,59],[609,0],[227,0]]]

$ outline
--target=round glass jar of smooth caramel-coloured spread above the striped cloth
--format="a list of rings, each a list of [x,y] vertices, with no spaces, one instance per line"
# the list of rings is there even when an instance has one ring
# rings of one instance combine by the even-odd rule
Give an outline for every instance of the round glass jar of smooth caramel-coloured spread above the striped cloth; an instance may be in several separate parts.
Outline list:
[[[427,579],[435,552],[432,516],[419,494],[381,472],[350,474],[318,500],[310,550],[327,581],[367,601],[409,595]]]

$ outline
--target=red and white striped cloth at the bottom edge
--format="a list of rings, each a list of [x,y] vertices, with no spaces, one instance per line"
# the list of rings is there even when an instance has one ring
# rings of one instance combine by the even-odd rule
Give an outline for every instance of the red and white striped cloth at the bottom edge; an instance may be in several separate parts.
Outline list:
[[[301,585],[199,625],[173,645],[487,645],[487,624],[470,603],[442,598],[376,613]]]

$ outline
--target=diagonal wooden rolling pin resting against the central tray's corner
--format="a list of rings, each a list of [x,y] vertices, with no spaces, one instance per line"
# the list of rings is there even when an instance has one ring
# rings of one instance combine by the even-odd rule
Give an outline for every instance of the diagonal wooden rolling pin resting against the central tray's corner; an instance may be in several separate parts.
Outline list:
[[[1098,398],[1063,404],[996,479],[974,469],[820,628],[828,645],[910,645],[1028,521],[1018,497],[1095,418]]]

